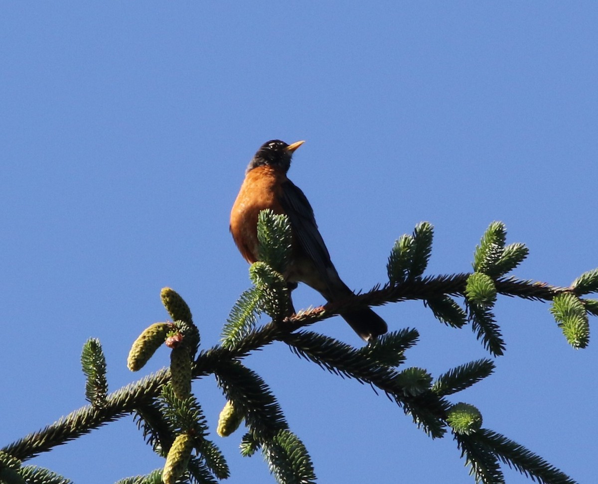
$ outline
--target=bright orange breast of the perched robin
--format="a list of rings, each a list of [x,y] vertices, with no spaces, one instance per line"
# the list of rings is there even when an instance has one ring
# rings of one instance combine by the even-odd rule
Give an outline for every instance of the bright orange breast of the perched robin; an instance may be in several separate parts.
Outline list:
[[[280,206],[280,184],[286,175],[270,166],[249,171],[243,180],[230,213],[230,232],[243,258],[250,264],[258,258],[258,215],[271,209],[283,213]]]

